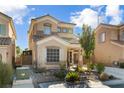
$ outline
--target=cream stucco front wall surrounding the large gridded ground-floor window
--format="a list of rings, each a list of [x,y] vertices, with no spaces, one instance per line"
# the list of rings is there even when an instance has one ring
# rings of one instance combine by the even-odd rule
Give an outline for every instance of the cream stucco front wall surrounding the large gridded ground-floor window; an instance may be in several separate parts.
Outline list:
[[[46,68],[58,68],[59,63],[49,64],[46,62],[46,49],[47,47],[55,46],[60,49],[60,62],[64,62],[67,60],[67,47],[57,42],[55,40],[50,40],[48,42],[43,43],[42,45],[37,45],[37,63],[38,67],[46,67]]]

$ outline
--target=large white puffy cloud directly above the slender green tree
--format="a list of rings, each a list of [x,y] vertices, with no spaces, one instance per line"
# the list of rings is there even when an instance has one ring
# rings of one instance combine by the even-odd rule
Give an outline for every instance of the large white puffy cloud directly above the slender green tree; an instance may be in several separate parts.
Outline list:
[[[98,24],[98,13],[90,8],[86,8],[80,12],[72,13],[71,22],[76,23],[77,27],[88,24],[95,28]]]

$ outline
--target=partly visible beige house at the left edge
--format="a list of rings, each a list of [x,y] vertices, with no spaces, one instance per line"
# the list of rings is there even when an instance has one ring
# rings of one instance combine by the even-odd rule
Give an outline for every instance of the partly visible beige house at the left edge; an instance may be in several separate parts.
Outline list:
[[[0,60],[12,64],[15,61],[16,31],[11,17],[0,12]]]

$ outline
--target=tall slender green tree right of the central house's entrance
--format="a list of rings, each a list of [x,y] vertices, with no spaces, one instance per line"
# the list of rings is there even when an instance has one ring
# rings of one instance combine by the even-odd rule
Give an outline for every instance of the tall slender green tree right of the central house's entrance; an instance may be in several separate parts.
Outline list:
[[[88,63],[91,62],[91,56],[94,54],[95,34],[88,25],[83,25],[83,33],[80,37],[81,47],[84,49],[84,57]]]

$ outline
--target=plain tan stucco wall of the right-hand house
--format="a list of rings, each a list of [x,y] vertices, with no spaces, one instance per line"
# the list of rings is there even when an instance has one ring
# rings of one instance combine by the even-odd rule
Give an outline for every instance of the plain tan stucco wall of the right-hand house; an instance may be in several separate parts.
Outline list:
[[[112,32],[113,31],[113,32]],[[105,32],[105,42],[98,42],[99,34]],[[111,43],[111,40],[117,40],[117,30],[113,28],[100,28],[96,31],[95,60],[106,65],[112,65],[113,61],[124,58],[123,48]]]

